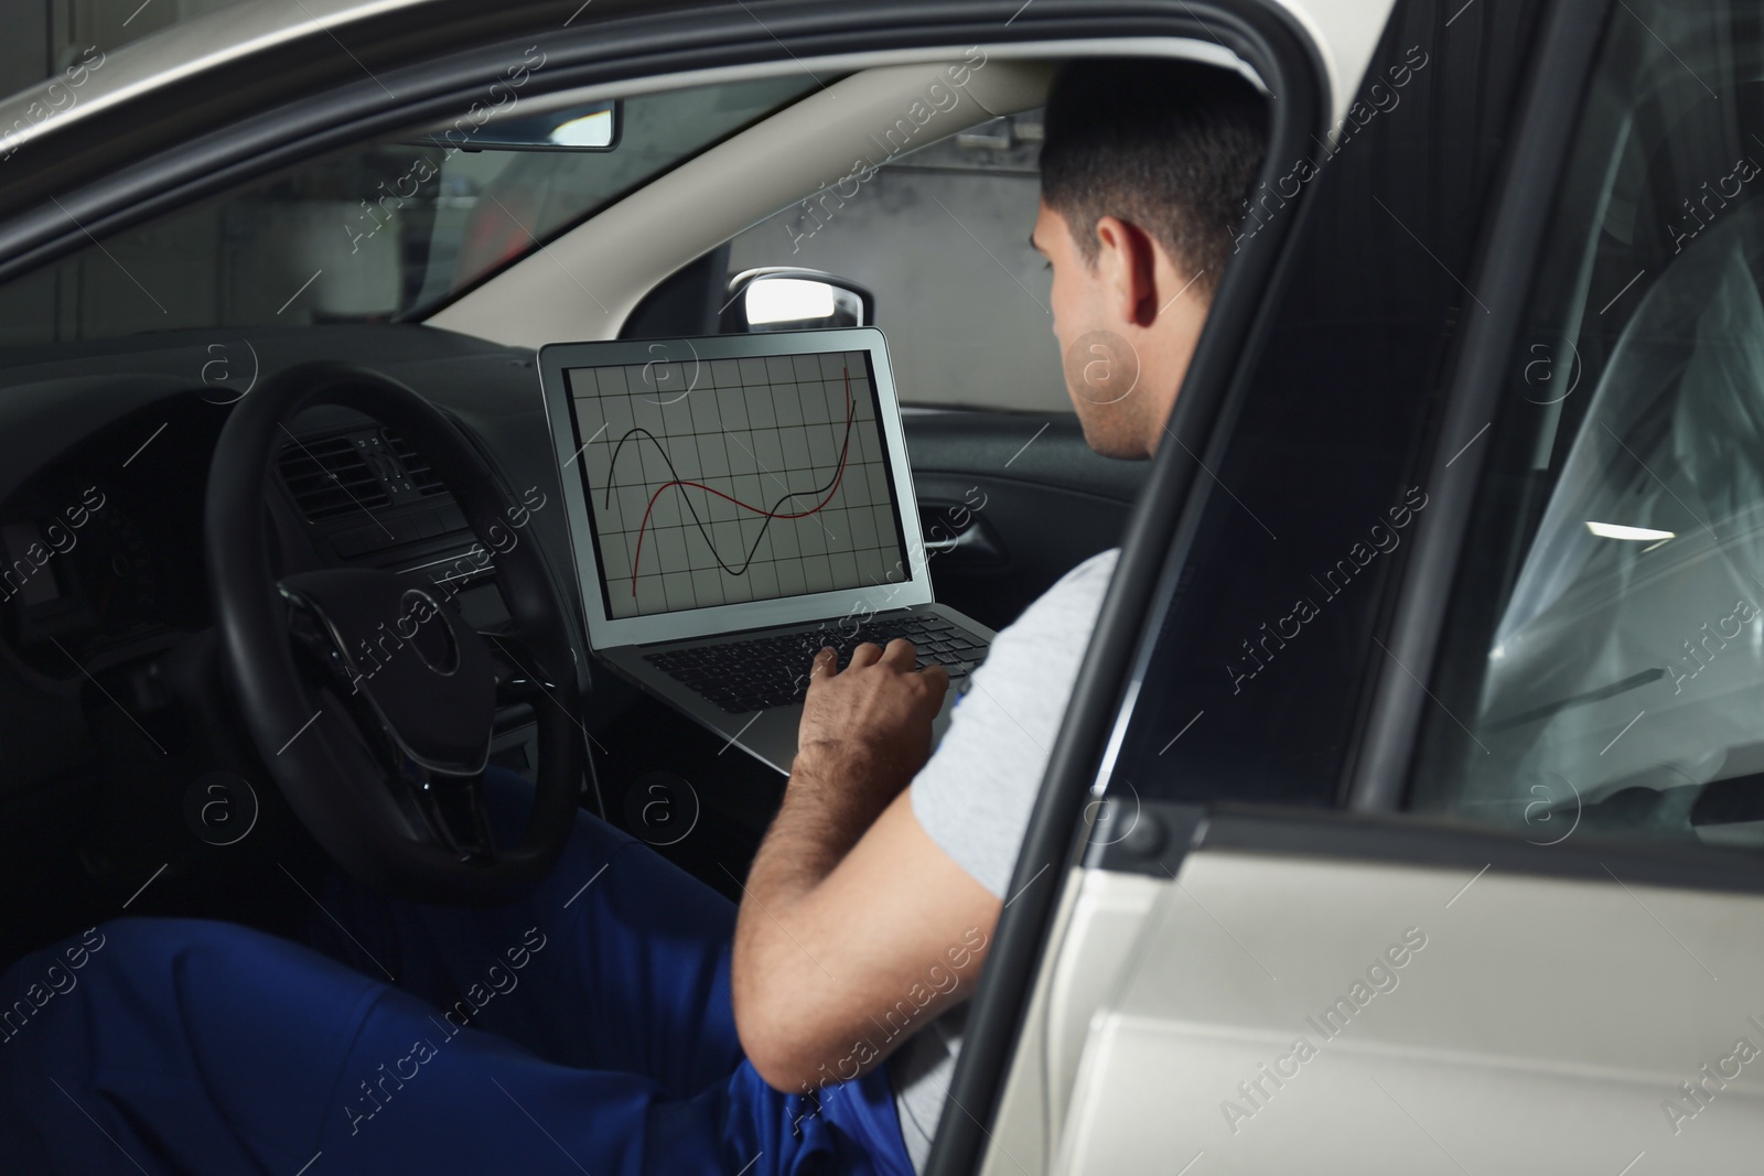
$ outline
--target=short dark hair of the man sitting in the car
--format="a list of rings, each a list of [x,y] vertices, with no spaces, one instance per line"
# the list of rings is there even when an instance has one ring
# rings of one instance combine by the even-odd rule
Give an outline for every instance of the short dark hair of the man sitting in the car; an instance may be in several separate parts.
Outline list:
[[[1087,263],[1120,217],[1198,273],[1212,296],[1268,150],[1268,108],[1242,74],[1175,58],[1085,58],[1053,79],[1041,197]]]

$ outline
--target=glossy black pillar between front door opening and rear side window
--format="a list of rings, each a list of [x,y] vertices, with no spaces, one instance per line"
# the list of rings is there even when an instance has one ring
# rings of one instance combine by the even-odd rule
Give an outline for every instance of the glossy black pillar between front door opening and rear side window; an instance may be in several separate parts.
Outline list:
[[[1538,12],[1397,5],[1335,138],[1252,194],[1240,238],[1291,254],[1214,441],[1185,441],[1196,506],[1102,767],[1127,813],[1342,797]]]

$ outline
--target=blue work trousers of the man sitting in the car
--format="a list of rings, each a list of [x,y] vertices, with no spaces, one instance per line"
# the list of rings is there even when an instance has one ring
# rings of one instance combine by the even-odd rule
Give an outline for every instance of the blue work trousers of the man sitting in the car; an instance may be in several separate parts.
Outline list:
[[[526,788],[485,776],[505,845]],[[587,813],[506,906],[340,871],[314,897],[310,945],[120,919],[9,968],[0,1171],[912,1176],[884,1070],[766,1086],[736,1038],[736,908]]]

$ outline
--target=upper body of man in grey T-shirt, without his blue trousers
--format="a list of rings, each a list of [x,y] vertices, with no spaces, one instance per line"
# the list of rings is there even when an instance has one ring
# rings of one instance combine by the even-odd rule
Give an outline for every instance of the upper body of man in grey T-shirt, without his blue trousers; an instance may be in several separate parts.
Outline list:
[[[1053,268],[1067,393],[1097,453],[1157,450],[1265,127],[1258,92],[1205,65],[1095,60],[1055,81],[1030,243]],[[905,642],[859,647],[841,674],[817,661],[736,929],[736,1024],[774,1088],[866,1074],[972,993],[1115,555],[998,635],[930,763],[942,670],[914,674]],[[891,1067],[917,1169],[958,1035],[960,1014]]]

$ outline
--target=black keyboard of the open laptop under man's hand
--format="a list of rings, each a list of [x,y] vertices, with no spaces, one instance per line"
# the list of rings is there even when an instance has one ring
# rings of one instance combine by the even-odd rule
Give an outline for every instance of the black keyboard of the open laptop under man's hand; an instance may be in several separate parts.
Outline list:
[[[691,649],[644,654],[651,663],[697,695],[730,714],[781,707],[801,702],[808,689],[808,666],[815,654],[831,645],[843,670],[852,651],[864,642],[887,645],[905,636],[919,654],[919,665],[940,665],[960,681],[986,656],[986,642],[960,624],[931,614],[877,619],[856,633],[850,624],[804,633],[778,633],[743,642],[718,642]]]

